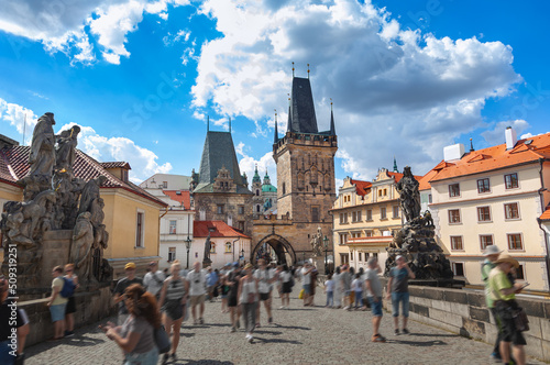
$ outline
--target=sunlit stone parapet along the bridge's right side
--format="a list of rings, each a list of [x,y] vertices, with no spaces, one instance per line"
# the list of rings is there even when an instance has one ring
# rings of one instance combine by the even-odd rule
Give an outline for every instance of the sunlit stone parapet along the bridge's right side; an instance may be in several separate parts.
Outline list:
[[[496,324],[480,291],[409,286],[410,318],[460,335],[494,344]],[[529,318],[526,353],[550,362],[550,301],[518,299]],[[387,309],[391,303],[386,302]],[[488,355],[487,355],[488,356]]]

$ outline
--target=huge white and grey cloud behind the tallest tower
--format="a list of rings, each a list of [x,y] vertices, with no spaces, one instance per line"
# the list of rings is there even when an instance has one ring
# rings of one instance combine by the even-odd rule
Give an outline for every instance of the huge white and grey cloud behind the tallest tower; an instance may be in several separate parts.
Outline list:
[[[332,98],[340,162],[362,178],[394,155],[426,173],[443,146],[485,125],[488,98],[521,80],[509,46],[403,30],[369,1],[207,0],[200,12],[222,36],[201,47],[194,107],[244,115],[267,135],[266,117],[288,106],[290,63],[300,77],[310,63],[319,129],[329,128]]]

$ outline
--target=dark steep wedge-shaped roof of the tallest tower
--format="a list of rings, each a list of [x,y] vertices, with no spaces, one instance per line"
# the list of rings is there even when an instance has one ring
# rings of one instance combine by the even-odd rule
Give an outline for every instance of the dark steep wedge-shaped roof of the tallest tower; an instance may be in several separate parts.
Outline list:
[[[309,79],[294,77],[290,95],[288,131],[297,133],[319,133],[315,115],[314,95]]]

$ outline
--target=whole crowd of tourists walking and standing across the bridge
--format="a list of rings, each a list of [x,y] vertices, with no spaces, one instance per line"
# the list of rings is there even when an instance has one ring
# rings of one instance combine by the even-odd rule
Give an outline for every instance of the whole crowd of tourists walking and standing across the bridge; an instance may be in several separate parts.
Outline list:
[[[526,341],[515,321],[518,310],[515,294],[525,287],[525,284],[514,283],[514,269],[519,266],[518,262],[502,254],[494,245],[487,246],[484,255],[482,276],[486,303],[498,327],[491,356],[504,364],[525,364]],[[250,263],[230,263],[220,270],[211,267],[204,269],[199,262],[187,270],[177,261],[172,263],[169,269],[160,270],[158,264],[152,262],[143,278],[136,277],[134,263],[128,263],[124,270],[125,277],[118,280],[113,290],[113,302],[118,307],[117,323],[108,322],[100,327],[107,338],[121,347],[124,364],[157,364],[160,358],[162,364],[175,362],[183,322],[190,317],[193,325],[204,324],[205,301],[217,301],[217,298],[220,299],[221,313],[229,313],[230,331],[237,332],[242,321],[245,341],[252,343],[255,329],[262,325],[262,308],[267,323],[273,323],[275,297],[278,295],[279,309],[285,310],[289,308],[289,296],[295,290],[302,306],[315,306],[319,284],[326,294],[326,308],[349,311],[370,308],[373,342],[386,342],[380,333],[384,297],[392,302],[394,334],[409,333],[408,281],[415,278],[415,274],[403,256],[396,257],[396,265],[388,273],[386,290],[380,279],[382,268],[376,257],[367,261],[365,270],[360,268],[355,272],[349,265],[336,267],[333,274],[324,277],[324,283],[319,283],[319,273],[307,262],[302,266],[288,267],[258,259],[256,267]],[[54,336],[50,341],[58,341],[74,335],[74,292],[78,288],[78,277],[72,264],[54,267],[52,276],[52,295],[47,306],[54,323]],[[300,286],[297,288],[298,281]],[[8,281],[0,277],[2,321],[13,307],[7,298]],[[18,311],[14,324],[15,334],[9,332],[10,327],[0,330],[1,364],[23,364],[24,342],[29,333],[29,319],[24,311]],[[11,345],[13,336],[18,339],[16,346]],[[164,345],[161,338],[166,342]]]

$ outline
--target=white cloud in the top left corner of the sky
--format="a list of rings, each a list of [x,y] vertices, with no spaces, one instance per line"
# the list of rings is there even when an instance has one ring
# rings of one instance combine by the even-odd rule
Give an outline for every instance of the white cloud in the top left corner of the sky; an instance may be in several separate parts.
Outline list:
[[[70,56],[73,64],[96,59],[92,36],[103,58],[119,64],[121,56],[130,56],[127,34],[138,29],[144,14],[167,20],[168,7],[187,4],[189,0],[9,1],[0,12],[0,30],[42,42],[47,52]]]

